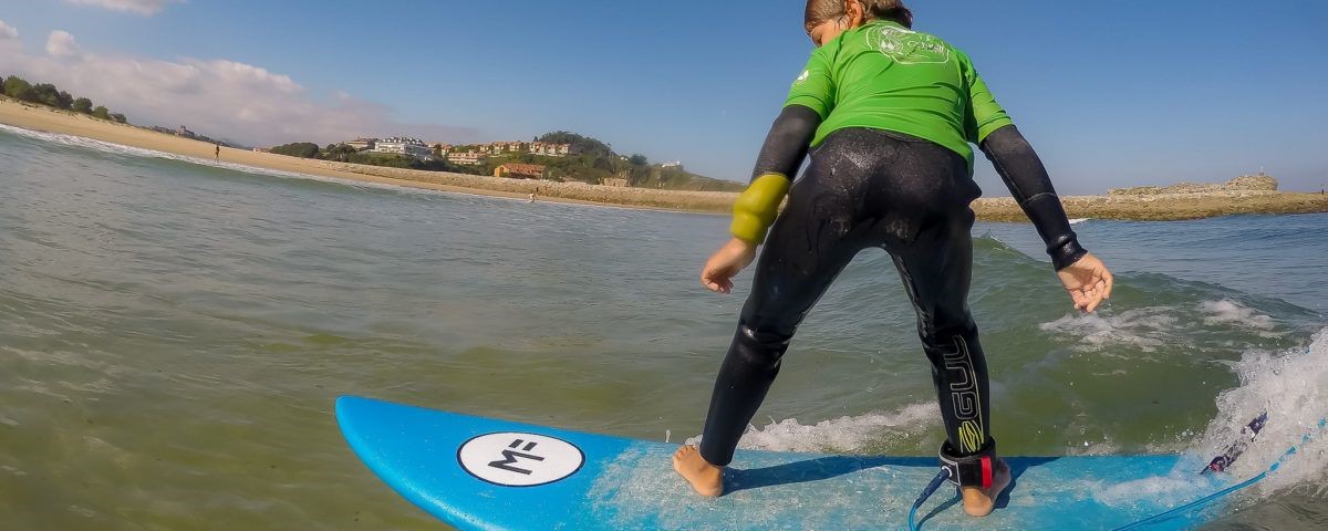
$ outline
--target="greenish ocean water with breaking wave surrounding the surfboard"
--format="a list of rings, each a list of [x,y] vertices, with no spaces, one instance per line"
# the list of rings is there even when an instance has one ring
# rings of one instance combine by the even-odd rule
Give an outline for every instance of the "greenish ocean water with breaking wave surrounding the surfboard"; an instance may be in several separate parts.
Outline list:
[[[0,126],[0,522],[444,528],[351,454],[339,394],[692,438],[750,281],[696,280],[725,227]],[[1268,410],[1235,474],[1301,451],[1211,527],[1328,526],[1328,215],[1076,230],[1117,272],[1094,316],[1072,315],[1029,226],[975,231],[1003,450],[1206,462]],[[898,276],[865,252],[742,446],[930,455],[934,400]]]

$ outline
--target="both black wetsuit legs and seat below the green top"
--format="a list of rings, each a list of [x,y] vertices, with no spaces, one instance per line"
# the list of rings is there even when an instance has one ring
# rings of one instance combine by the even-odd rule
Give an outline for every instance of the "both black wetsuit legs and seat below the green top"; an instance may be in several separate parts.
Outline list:
[[[826,138],[757,262],[752,295],[714,382],[701,457],[717,466],[733,459],[798,325],[867,247],[891,252],[918,308],[951,443],[969,447],[976,429],[981,446],[987,365],[967,305],[968,204],[979,194],[967,161],[936,143],[869,129]]]

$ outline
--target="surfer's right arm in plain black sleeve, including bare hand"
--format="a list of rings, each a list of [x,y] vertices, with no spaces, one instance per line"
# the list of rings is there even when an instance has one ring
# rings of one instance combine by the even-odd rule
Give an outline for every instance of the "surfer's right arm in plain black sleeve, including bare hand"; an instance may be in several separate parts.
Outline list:
[[[1104,299],[1112,296],[1112,272],[1080,246],[1037,151],[1013,125],[988,134],[981,149],[1020,208],[1037,227],[1074,307],[1085,312],[1097,309]]]

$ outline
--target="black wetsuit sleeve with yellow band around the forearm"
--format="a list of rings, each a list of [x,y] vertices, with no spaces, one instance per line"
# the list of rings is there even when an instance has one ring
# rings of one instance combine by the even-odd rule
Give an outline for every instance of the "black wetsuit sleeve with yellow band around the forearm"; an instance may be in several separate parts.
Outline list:
[[[729,232],[734,238],[754,244],[765,242],[819,125],[821,115],[799,104],[785,106],[774,119],[752,171],[752,185],[733,204]]]

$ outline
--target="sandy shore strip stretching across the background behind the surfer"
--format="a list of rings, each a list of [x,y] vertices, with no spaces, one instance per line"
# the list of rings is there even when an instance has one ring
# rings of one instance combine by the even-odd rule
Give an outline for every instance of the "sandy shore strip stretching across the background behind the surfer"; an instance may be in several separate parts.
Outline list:
[[[214,158],[215,153],[215,146],[211,143],[97,119],[84,114],[20,104],[8,98],[0,98],[0,123],[208,161]],[[267,170],[449,192],[513,199],[529,199],[530,194],[537,194],[538,200],[631,208],[722,214],[732,208],[733,200],[737,198],[737,194],[718,191],[612,187],[349,165],[228,147],[222,147],[220,161]],[[1328,212],[1328,195],[1303,192],[1251,191],[1143,196],[1086,195],[1065,196],[1062,202],[1070,218],[1090,219],[1181,220],[1231,214]],[[979,199],[973,203],[973,211],[977,212],[980,220],[1027,220],[1023,211],[1020,211],[1019,206],[1011,198]]]

